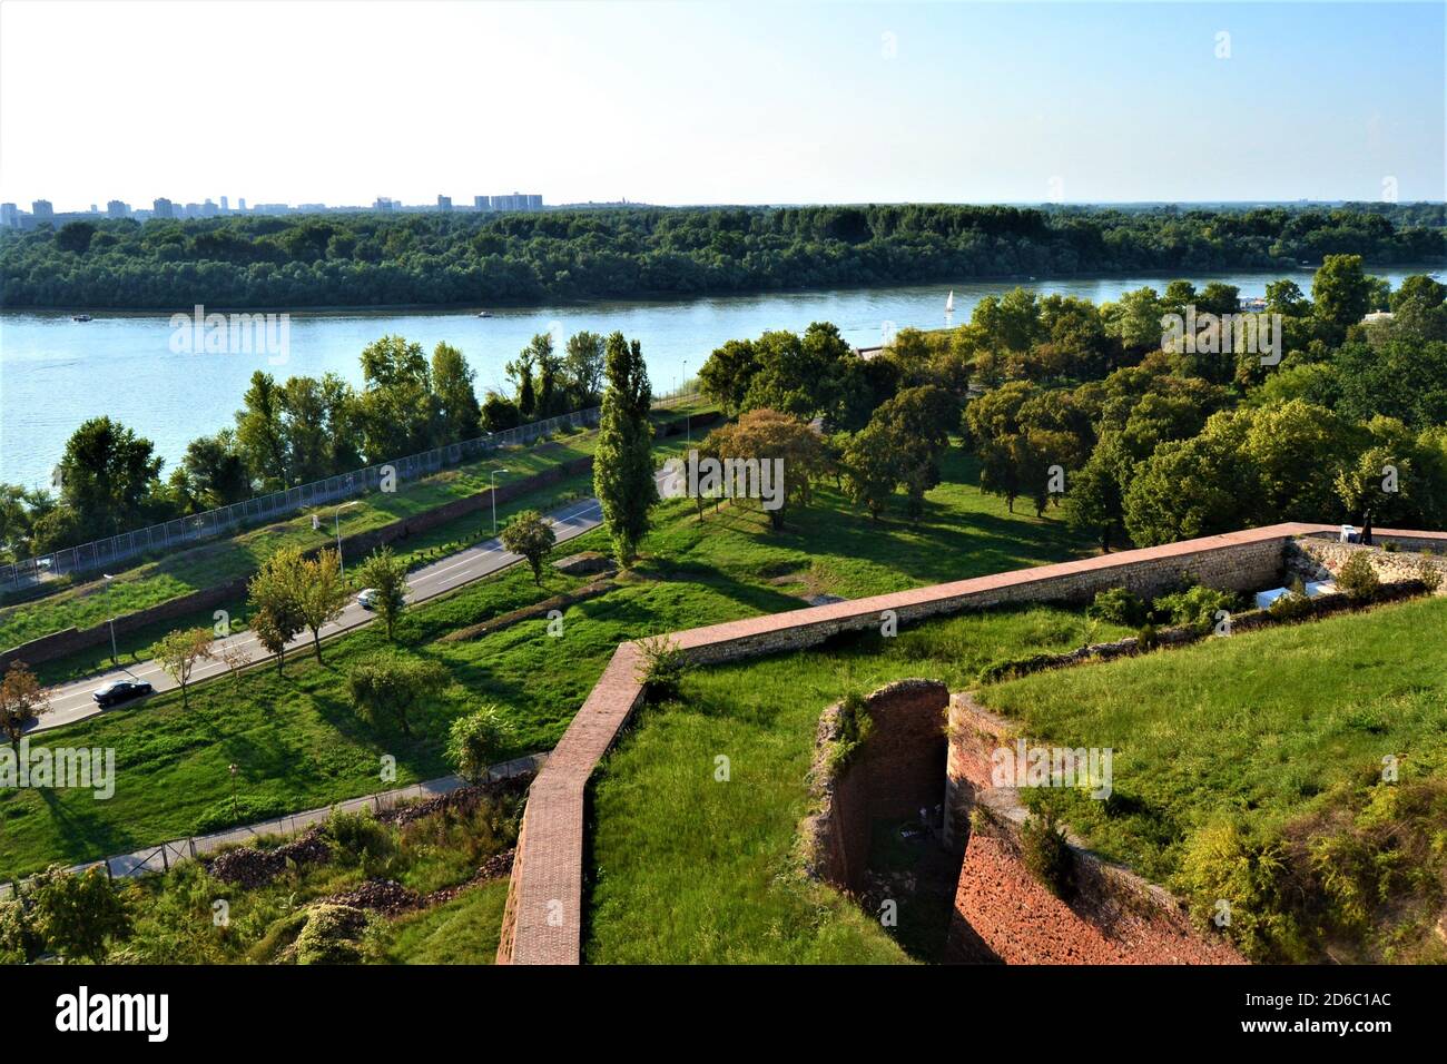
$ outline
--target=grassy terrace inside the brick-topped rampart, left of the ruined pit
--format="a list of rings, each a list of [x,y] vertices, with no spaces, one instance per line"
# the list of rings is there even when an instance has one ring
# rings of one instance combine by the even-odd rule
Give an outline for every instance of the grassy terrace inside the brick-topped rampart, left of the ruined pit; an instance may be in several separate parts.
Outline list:
[[[903,677],[968,686],[1003,656],[1074,649],[1091,633],[1114,634],[1051,607],[988,611],[693,672],[677,701],[640,712],[593,777],[585,957],[909,963],[854,902],[800,871],[819,715]],[[719,756],[728,782],[715,779]]]

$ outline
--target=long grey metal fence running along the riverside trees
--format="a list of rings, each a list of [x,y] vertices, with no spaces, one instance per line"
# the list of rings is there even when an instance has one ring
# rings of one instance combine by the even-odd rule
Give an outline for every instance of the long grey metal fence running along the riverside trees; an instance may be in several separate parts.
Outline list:
[[[693,398],[696,392],[673,392],[654,402],[654,407],[670,407]],[[391,470],[395,484],[417,481],[449,466],[473,462],[502,447],[511,447],[548,436],[563,428],[592,428],[598,424],[601,410],[579,410],[560,414],[546,421],[489,433],[475,440],[434,447],[421,455],[379,462],[366,469],[328,476],[285,491],[258,495],[245,502],[233,502],[218,510],[207,510],[190,517],[177,517],[148,528],[120,533],[104,540],[93,540],[78,547],[65,547],[54,554],[27,557],[0,566],[0,586],[22,588],[38,580],[59,576],[97,573],[152,553],[185,549],[195,543],[223,536],[249,525],[266,524],[308,507],[326,505],[376,491],[382,478]]]

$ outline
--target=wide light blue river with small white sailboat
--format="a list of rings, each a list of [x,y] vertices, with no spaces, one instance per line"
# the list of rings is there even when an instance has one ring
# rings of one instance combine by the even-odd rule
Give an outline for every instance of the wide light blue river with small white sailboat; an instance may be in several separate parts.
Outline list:
[[[1421,269],[1380,275],[1395,288]],[[1242,295],[1260,295],[1266,282],[1292,276],[1310,292],[1311,271],[1236,272],[1191,278],[1237,285]],[[1042,295],[1059,292],[1095,303],[1152,285],[1160,275],[1032,281]],[[1013,281],[954,285],[955,313],[946,320],[949,284],[897,288],[719,295],[682,301],[589,303],[579,305],[498,308],[489,318],[475,311],[301,311],[289,316],[285,355],[191,353],[174,350],[168,314],[96,311],[94,320],[72,321],[68,313],[0,314],[0,481],[39,486],[48,482],[67,437],[88,417],[110,414],[156,444],[166,469],[185,444],[233,424],[247,379],[256,369],[278,378],[317,376],[333,371],[360,384],[357,356],[372,340],[399,333],[431,352],[438,340],[463,350],[478,371],[478,391],[504,388],[504,366],[534,333],[551,332],[561,342],[583,329],[622,330],[642,343],[655,392],[677,388],[696,373],[715,347],[729,339],[758,336],[767,329],[803,330],[810,321],[832,321],[857,346],[875,346],[890,327],[936,329],[969,320],[975,303],[1013,288]]]

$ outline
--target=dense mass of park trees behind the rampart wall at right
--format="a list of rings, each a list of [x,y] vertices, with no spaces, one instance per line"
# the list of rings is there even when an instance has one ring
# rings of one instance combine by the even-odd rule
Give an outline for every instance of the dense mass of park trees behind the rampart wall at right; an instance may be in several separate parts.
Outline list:
[[[1230,285],[1101,305],[1020,288],[873,359],[823,323],[729,342],[699,381],[744,420],[816,427],[823,455],[805,468],[875,517],[903,495],[917,518],[956,436],[985,492],[1061,508],[1103,549],[1278,521],[1447,525],[1447,287],[1415,275],[1392,291],[1331,255],[1310,297],[1292,281],[1266,292],[1242,317],[1269,333],[1279,316],[1276,352],[1240,332],[1169,336],[1171,314],[1236,314]]]

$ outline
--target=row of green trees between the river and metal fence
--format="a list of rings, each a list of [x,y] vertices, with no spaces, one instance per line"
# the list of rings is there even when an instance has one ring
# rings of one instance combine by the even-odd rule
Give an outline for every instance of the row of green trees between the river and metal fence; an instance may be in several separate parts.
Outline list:
[[[596,407],[603,339],[554,350],[534,336],[508,363],[512,394],[479,402],[466,356],[383,336],[362,352],[362,387],[337,373],[252,375],[234,423],[187,444],[166,473],[155,444],[109,415],[67,440],[52,489],[0,484],[0,556],[46,554],[339,473]]]

